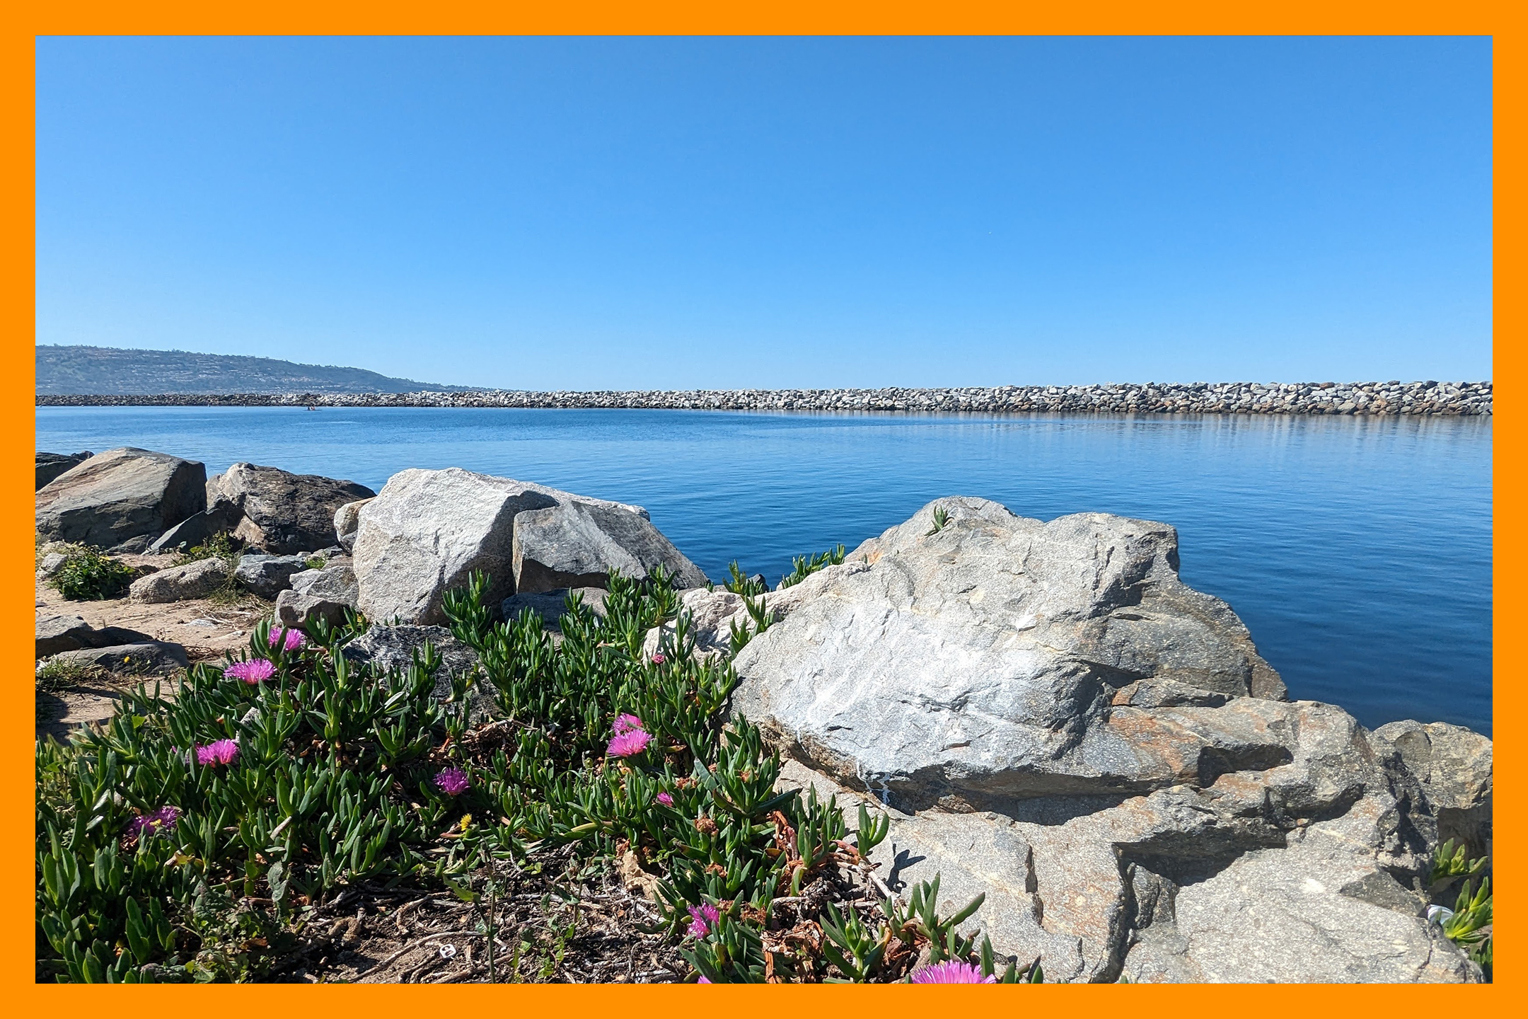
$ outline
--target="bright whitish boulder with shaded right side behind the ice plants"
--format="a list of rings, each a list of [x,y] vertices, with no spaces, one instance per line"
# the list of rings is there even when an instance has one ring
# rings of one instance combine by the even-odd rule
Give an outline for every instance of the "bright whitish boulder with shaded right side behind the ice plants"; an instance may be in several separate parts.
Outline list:
[[[465,587],[474,570],[490,579],[484,603],[498,605],[516,593],[516,521],[529,512],[564,506],[594,507],[607,516],[619,512],[651,527],[642,507],[604,503],[530,481],[460,467],[394,474],[359,513],[354,570],[361,582],[361,610],[376,620],[445,622],[446,591]],[[601,533],[608,536],[608,532]],[[613,552],[616,544],[601,547]],[[622,562],[630,565],[631,559]],[[602,579],[605,574],[590,567],[588,576]]]

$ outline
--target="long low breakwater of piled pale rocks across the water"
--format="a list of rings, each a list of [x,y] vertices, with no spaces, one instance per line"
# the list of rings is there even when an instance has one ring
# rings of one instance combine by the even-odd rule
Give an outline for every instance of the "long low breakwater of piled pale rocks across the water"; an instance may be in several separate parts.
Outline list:
[[[465,406],[976,414],[1491,414],[1490,382],[1192,382],[886,390],[167,393],[38,396],[38,406]]]

